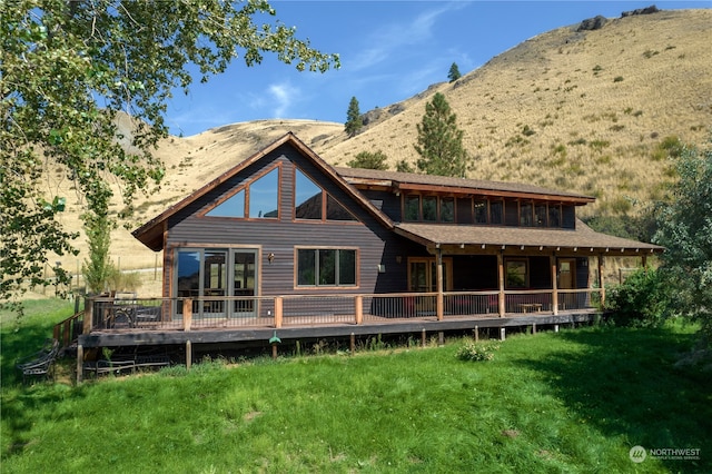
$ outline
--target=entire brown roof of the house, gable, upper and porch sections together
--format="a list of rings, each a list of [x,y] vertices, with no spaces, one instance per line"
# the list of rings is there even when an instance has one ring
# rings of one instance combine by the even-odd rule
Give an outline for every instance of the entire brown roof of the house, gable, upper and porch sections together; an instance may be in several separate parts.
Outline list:
[[[494,227],[475,225],[443,225],[423,223],[393,223],[388,216],[376,208],[357,188],[382,188],[392,191],[451,192],[453,195],[501,196],[531,198],[568,203],[576,206],[593,203],[595,199],[575,192],[558,191],[537,186],[484,181],[476,179],[449,178],[443,176],[416,175],[409,172],[380,171],[357,168],[334,168],[319,158],[294,134],[288,132],[265,149],[225,171],[207,185],[134,230],[132,235],[152,250],[164,247],[164,234],[168,219],[191,205],[207,192],[216,189],[250,165],[259,161],[284,145],[294,147],[309,159],[320,171],[329,177],[340,189],[363,206],[385,228],[394,230],[411,240],[427,247],[438,245],[515,246],[590,249],[591,251],[613,251],[631,255],[639,251],[662,251],[663,247],[636,240],[600,234],[576,219],[575,229],[551,229],[536,227]]]

